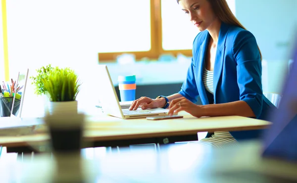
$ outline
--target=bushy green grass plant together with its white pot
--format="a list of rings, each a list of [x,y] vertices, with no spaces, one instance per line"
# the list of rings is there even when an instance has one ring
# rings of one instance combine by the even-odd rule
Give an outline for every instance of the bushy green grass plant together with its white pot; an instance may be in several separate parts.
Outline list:
[[[55,67],[42,82],[49,95],[50,114],[77,113],[76,96],[81,83],[72,69]]]

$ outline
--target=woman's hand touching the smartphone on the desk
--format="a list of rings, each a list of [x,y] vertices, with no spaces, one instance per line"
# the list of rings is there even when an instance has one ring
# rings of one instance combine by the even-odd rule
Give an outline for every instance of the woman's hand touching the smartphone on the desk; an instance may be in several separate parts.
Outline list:
[[[171,101],[168,115],[171,116],[173,113],[178,113],[180,111],[186,111],[197,118],[203,116],[200,106],[185,97],[177,98]]]

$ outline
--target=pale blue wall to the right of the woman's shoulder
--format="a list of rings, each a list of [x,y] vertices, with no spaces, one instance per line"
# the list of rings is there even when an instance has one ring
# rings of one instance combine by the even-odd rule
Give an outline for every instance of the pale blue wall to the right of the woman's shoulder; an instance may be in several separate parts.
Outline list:
[[[297,0],[236,0],[236,16],[256,37],[266,60],[288,59]]]

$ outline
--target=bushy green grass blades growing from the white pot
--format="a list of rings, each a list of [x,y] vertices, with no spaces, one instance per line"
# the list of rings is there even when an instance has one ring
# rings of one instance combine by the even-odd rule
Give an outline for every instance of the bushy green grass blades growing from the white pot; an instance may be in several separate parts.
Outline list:
[[[48,75],[48,80],[43,79],[43,82],[51,101],[73,101],[81,86],[78,76],[68,67],[54,68]]]

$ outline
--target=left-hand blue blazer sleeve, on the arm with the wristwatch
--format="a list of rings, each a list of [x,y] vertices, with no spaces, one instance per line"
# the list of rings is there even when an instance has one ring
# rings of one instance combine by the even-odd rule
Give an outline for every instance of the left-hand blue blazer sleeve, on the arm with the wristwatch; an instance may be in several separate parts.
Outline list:
[[[183,95],[184,97],[192,101],[193,103],[196,103],[198,101],[199,93],[196,85],[194,68],[195,66],[193,65],[193,58],[192,58],[191,65],[188,69],[187,79],[183,83],[181,91],[178,93],[180,93],[181,95]]]

